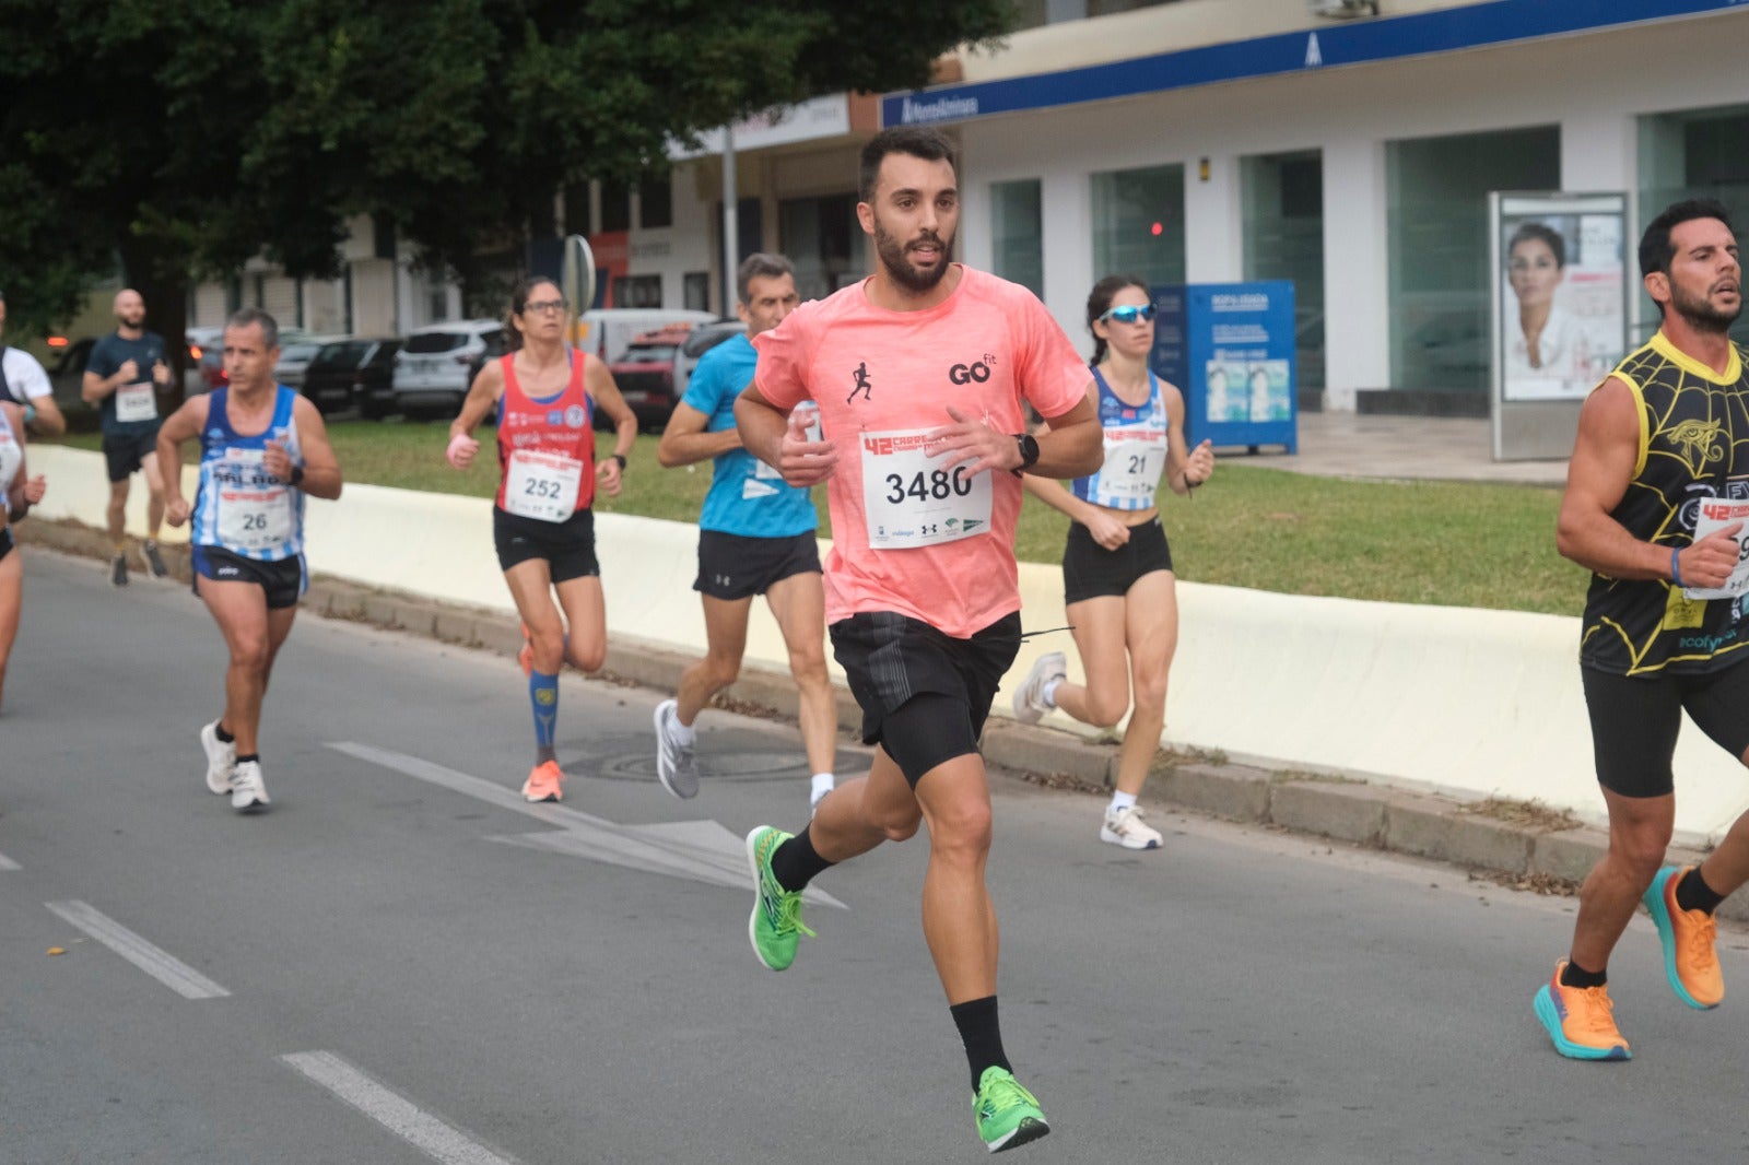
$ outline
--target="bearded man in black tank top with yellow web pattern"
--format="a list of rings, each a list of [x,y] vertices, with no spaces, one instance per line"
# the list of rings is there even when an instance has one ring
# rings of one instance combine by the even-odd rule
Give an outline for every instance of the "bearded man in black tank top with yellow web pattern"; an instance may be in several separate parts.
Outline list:
[[[1742,313],[1728,212],[1711,199],[1667,206],[1639,262],[1662,324],[1579,411],[1557,532],[1560,553],[1592,570],[1579,673],[1609,808],[1609,850],[1579,890],[1569,957],[1534,999],[1555,1050],[1574,1060],[1630,1055],[1606,967],[1642,901],[1677,999],[1718,1006],[1712,911],[1749,882],[1749,815],[1698,866],[1663,866],[1683,712],[1749,764],[1749,598],[1690,595],[1725,588],[1749,534],[1740,521],[1697,528],[1707,502],[1749,500],[1749,353],[1728,334]]]

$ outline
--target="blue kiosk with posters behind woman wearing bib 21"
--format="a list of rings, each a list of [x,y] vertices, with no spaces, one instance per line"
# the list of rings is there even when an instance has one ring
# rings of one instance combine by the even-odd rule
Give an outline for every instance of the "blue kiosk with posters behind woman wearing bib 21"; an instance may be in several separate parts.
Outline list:
[[[1149,366],[1184,394],[1184,439],[1300,446],[1294,285],[1163,283]]]

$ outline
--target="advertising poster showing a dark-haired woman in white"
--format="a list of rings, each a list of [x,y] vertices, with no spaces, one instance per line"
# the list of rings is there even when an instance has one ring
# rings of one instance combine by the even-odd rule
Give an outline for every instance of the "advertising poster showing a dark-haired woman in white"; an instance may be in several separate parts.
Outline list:
[[[1583,401],[1627,350],[1627,199],[1502,194],[1499,399]]]

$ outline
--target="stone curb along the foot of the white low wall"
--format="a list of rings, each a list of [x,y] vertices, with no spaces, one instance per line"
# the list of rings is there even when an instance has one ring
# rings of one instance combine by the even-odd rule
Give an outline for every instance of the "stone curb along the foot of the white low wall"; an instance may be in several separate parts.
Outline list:
[[[19,542],[107,560],[108,539],[73,520],[30,521],[14,530]],[[161,546],[171,577],[187,582],[189,549]],[[521,631],[514,616],[315,576],[303,607],[329,619],[350,619],[409,631],[448,644],[516,656]],[[673,691],[693,656],[644,640],[609,640],[607,661],[595,679]],[[855,726],[862,712],[834,682],[838,722]],[[712,701],[714,707],[796,719],[798,694],[787,672],[747,666]],[[983,736],[985,759],[1051,787],[1105,792],[1112,787],[1118,747],[1055,728],[992,719]],[[1268,770],[1221,756],[1161,750],[1142,791],[1144,803],[1224,820],[1272,826],[1293,833],[1389,850],[1509,880],[1541,894],[1572,894],[1606,848],[1607,834],[1536,805],[1459,801],[1369,784],[1354,777]],[[1700,861],[1697,850],[1672,847],[1669,861]],[[1749,899],[1732,896],[1719,917],[1749,922]]]

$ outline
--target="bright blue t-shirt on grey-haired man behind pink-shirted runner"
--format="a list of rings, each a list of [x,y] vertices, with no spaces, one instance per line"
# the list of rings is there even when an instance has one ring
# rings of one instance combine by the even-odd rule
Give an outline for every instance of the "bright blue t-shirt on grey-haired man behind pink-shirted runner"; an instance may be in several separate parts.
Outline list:
[[[735,429],[735,397],[754,381],[759,353],[747,336],[731,336],[700,360],[682,404],[707,418],[705,432]],[[749,539],[787,539],[820,523],[808,490],[798,490],[747,450],[719,453],[710,472],[710,493],[698,516],[701,530]]]

